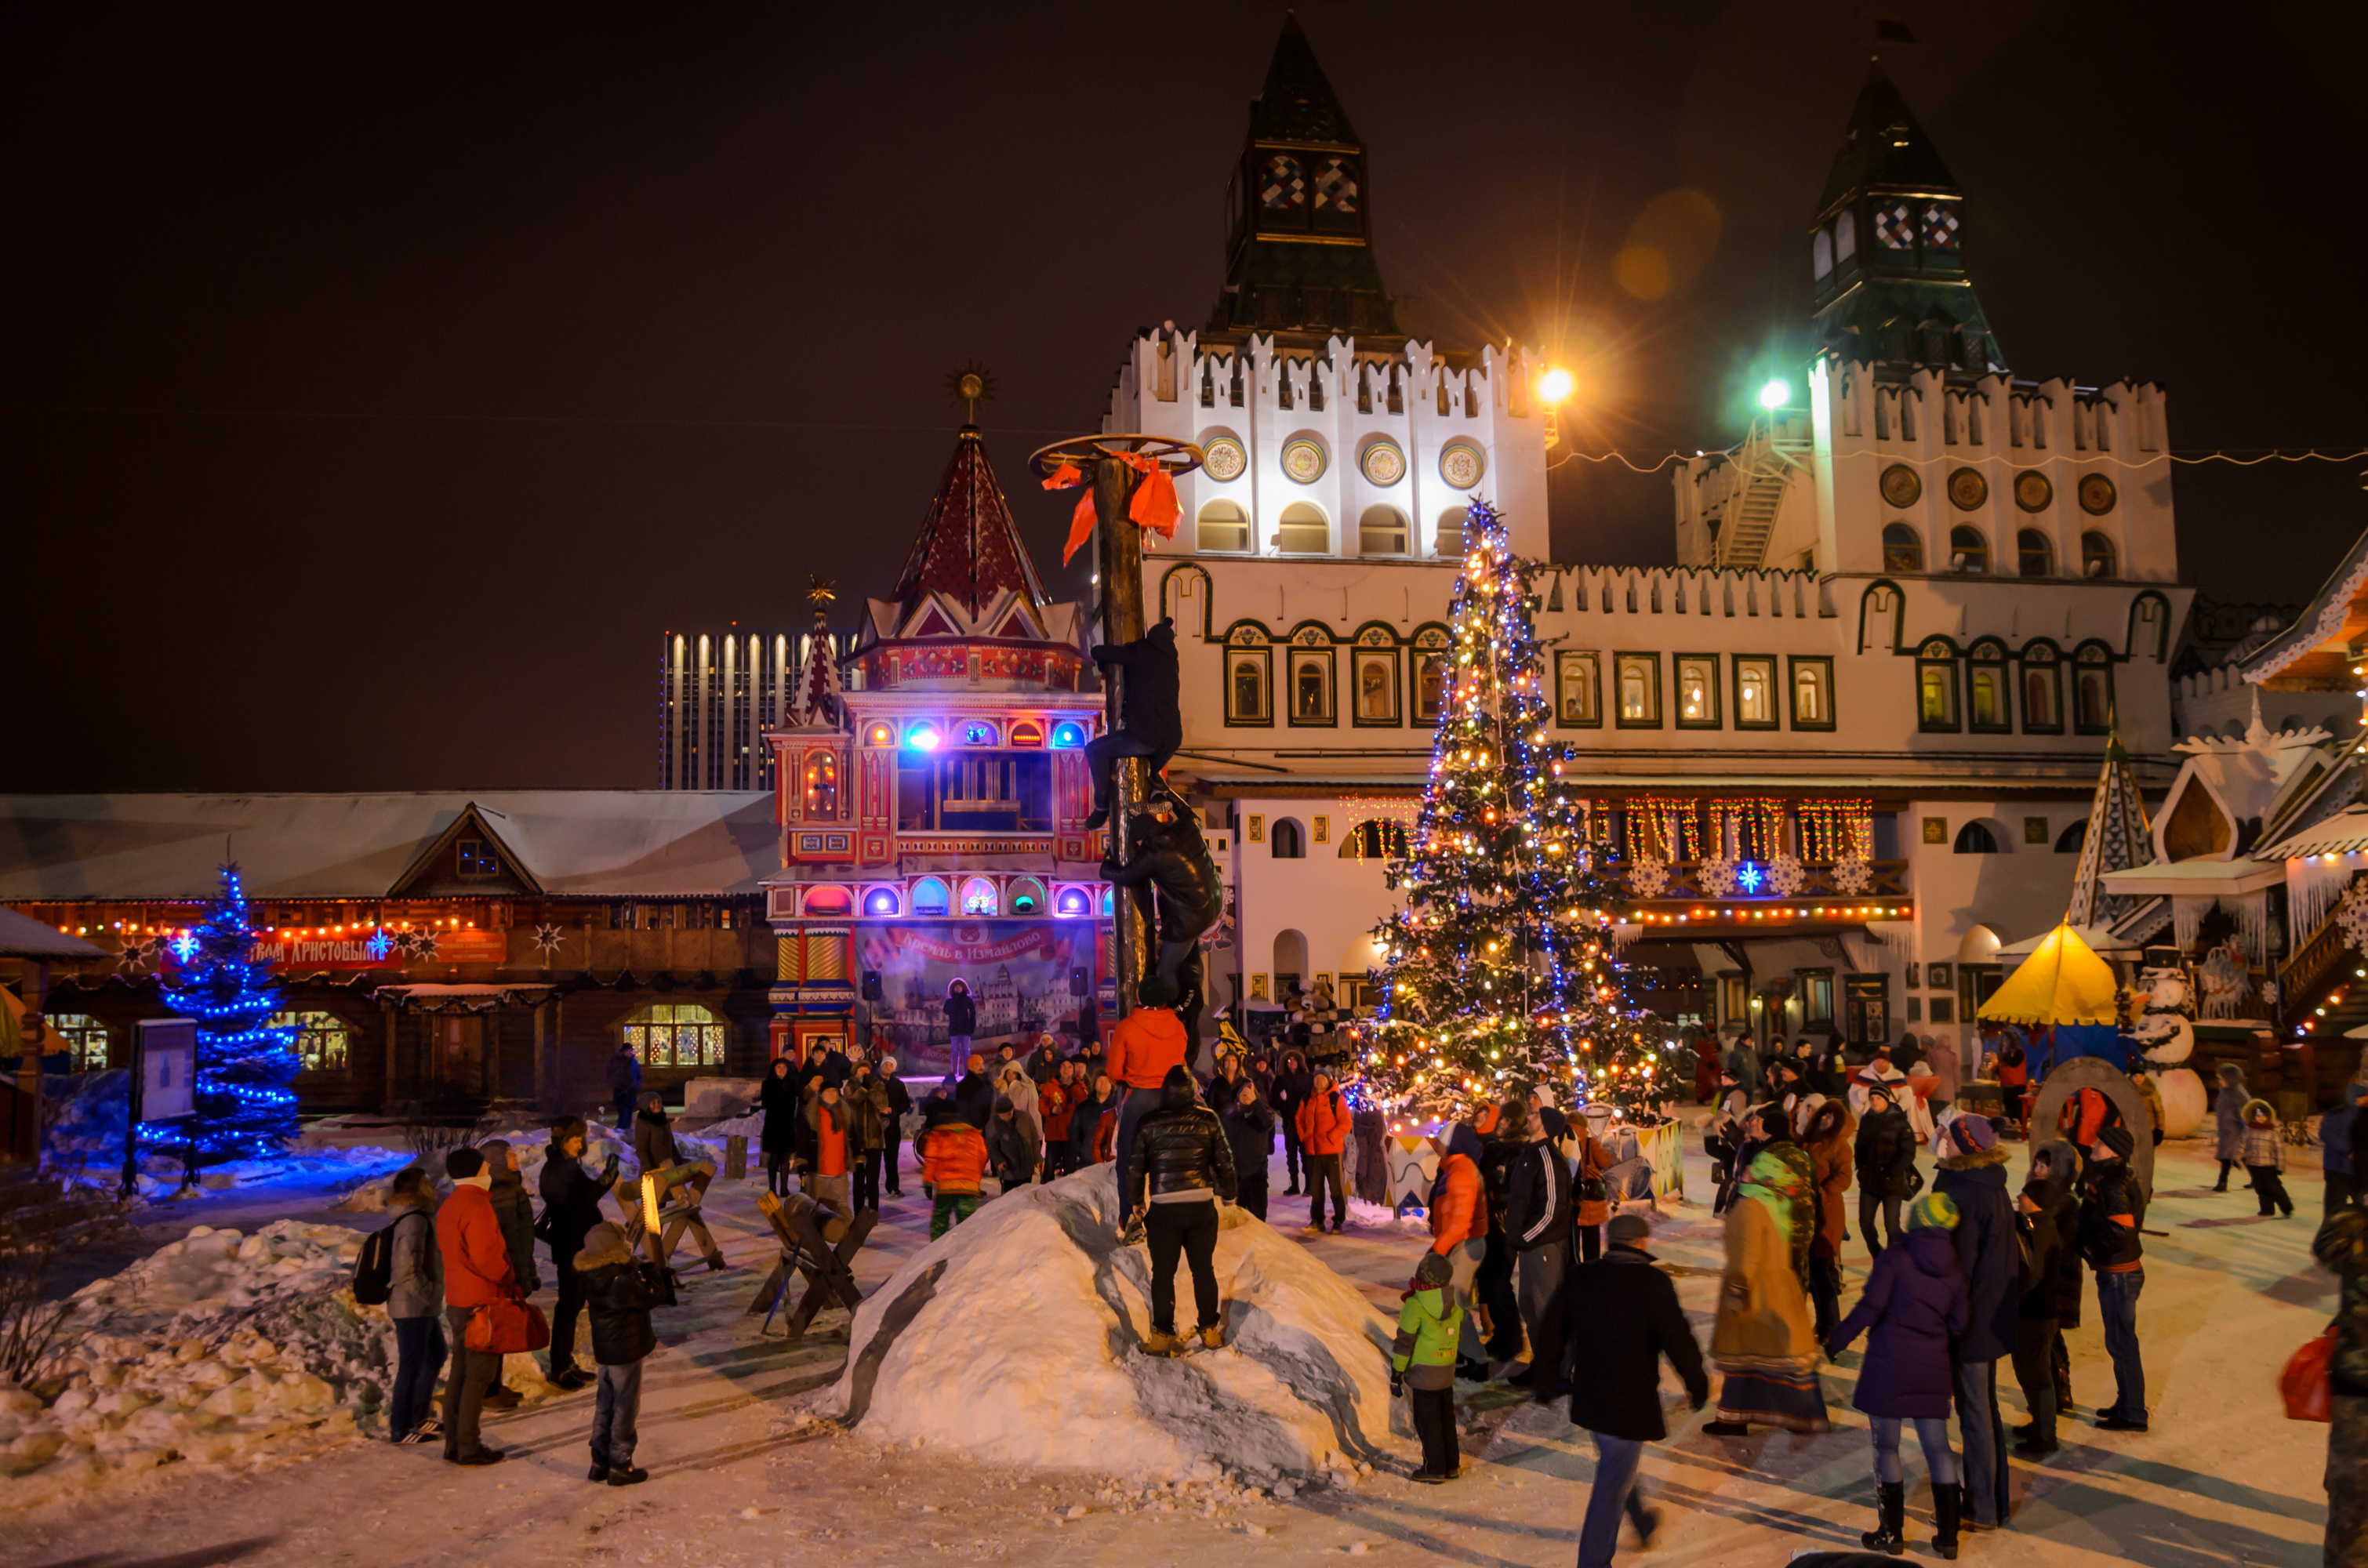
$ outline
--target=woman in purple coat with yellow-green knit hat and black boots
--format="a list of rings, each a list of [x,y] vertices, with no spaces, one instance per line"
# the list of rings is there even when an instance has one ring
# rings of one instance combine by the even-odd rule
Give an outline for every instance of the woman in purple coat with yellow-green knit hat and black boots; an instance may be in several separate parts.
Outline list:
[[[1949,1341],[1965,1334],[1965,1274],[1956,1262],[1956,1203],[1930,1191],[1909,1208],[1909,1234],[1899,1246],[1883,1248],[1866,1277],[1866,1293],[1852,1307],[1826,1355],[1840,1355],[1849,1341],[1866,1334],[1866,1362],[1859,1367],[1859,1390],[1852,1405],[1866,1412],[1875,1428],[1878,1525],[1864,1535],[1868,1551],[1899,1556],[1906,1551],[1906,1476],[1899,1469],[1899,1424],[1916,1424],[1916,1445],[1932,1471],[1932,1549],[1956,1556],[1956,1525],[1963,1516],[1963,1492],[1956,1483],[1956,1459],[1949,1454],[1949,1400],[1956,1379],[1949,1371]],[[1871,1334],[1868,1334],[1871,1329]]]

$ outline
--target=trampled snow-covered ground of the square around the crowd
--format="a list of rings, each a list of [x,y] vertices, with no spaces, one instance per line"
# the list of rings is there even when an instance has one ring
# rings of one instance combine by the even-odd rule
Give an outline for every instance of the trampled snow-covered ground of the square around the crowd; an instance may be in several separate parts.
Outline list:
[[[2091,1312],[2072,1336],[2081,1419],[2065,1426],[2065,1447],[2051,1461],[2013,1461],[2015,1523],[1968,1537],[1968,1561],[2176,1568],[2318,1561],[2328,1428],[2287,1421],[2276,1395],[2278,1367],[2325,1324],[2335,1296],[2306,1251],[2318,1213],[2316,1172],[2290,1175],[2299,1217],[2257,1220],[2250,1194],[2207,1191],[2214,1170],[2205,1151],[2202,1144],[2164,1149],[2150,1210],[2150,1225],[2169,1232],[2148,1239],[2138,1310],[2155,1428],[2131,1435],[2086,1424],[2112,1381]],[[2018,1146],[2010,1165],[2018,1175],[2022,1158]],[[1655,1251],[1677,1270],[1688,1317],[1707,1336],[1719,1227],[1700,1203],[1707,1168],[1698,1146],[1686,1175],[1695,1203],[1665,1206]],[[1274,1189],[1281,1191],[1281,1172]],[[298,1447],[294,1464],[260,1471],[239,1454],[189,1457],[14,1516],[7,1556],[50,1566],[185,1551],[192,1563],[234,1556],[313,1566],[483,1563],[556,1549],[701,1568],[817,1559],[1148,1566],[1205,1563],[1215,1554],[1262,1568],[1357,1554],[1359,1544],[1364,1556],[1399,1563],[1561,1566],[1572,1556],[1594,1452],[1561,1412],[1523,1405],[1499,1388],[1463,1390],[1471,1421],[1463,1480],[1418,1487],[1399,1476],[1404,1461],[1385,1454],[1373,1473],[1317,1476],[1288,1499],[1276,1487],[1243,1485],[1241,1476],[1134,1480],[1115,1461],[1047,1469],[1028,1445],[1049,1452],[1063,1438],[1032,1405],[1014,1409],[1009,1421],[1018,1452],[1028,1454],[1023,1464],[980,1459],[952,1438],[924,1435],[914,1447],[909,1438],[879,1440],[867,1426],[812,1421],[798,1400],[826,1395],[841,1381],[848,1315],[822,1315],[800,1343],[784,1343],[779,1324],[765,1336],[760,1319],[746,1315],[760,1265],[774,1251],[753,1213],[755,1191],[760,1182],[718,1182],[708,1215],[734,1267],[687,1274],[682,1305],[658,1315],[661,1350],[646,1367],[639,1452],[654,1473],[649,1485],[585,1483],[590,1395],[573,1395],[488,1421],[488,1440],[511,1454],[490,1471],[440,1466],[433,1447],[348,1438]],[[928,1210],[909,1163],[905,1194],[857,1258],[857,1279],[874,1300],[926,1248]],[[1037,1201],[990,1201],[973,1225],[992,1220],[997,1203]],[[1295,1227],[1305,1213],[1302,1199],[1276,1196],[1276,1241],[1305,1246],[1310,1260],[1352,1279],[1376,1307],[1397,1300],[1418,1251],[1414,1236],[1362,1229],[1352,1217],[1347,1236],[1302,1244]],[[1866,1265],[1857,1244],[1845,1262],[1854,1291]],[[1056,1315],[1037,1305],[1025,1279],[1006,1281],[995,1291],[995,1310],[983,1303],[973,1324],[980,1350],[1006,1343],[1018,1334],[1009,1324],[1018,1322],[1061,1341],[1051,1350],[1066,1345],[1080,1374],[1111,1357],[1108,1338],[1063,1341]],[[1210,1367],[1210,1352],[1167,1364],[1182,1376]],[[336,1388],[327,1374],[313,1376]],[[1797,1549],[1857,1547],[1857,1530],[1871,1523],[1871,1485],[1866,1421],[1847,1407],[1854,1376],[1857,1357],[1826,1371],[1840,1428],[1814,1440],[1707,1438],[1698,1431],[1703,1416],[1688,1414],[1674,1381],[1665,1381],[1672,1438],[1648,1450],[1643,1473],[1669,1523],[1650,1559],[1781,1563]],[[2013,1424],[2022,1419],[2020,1395],[2010,1376],[2003,1381]],[[980,1419],[992,1424],[992,1412]],[[1911,1551],[1920,1551],[1930,1540],[1930,1499],[1913,1445],[1909,1476]],[[1632,1551],[1624,1537],[1622,1556]]]

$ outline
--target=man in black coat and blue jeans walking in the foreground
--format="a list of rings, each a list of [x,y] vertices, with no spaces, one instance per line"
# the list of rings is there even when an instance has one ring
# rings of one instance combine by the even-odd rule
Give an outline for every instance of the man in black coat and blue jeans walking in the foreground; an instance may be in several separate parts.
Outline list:
[[[1570,1374],[1570,1424],[1596,1440],[1596,1485],[1579,1525],[1579,1561],[1610,1563],[1620,1514],[1636,1523],[1636,1540],[1653,1544],[1660,1511],[1643,1506],[1636,1461],[1646,1442],[1667,1438],[1660,1419],[1660,1357],[1686,1383],[1693,1409],[1710,1402],[1703,1348],[1677,1305],[1677,1286],[1643,1251],[1653,1227],[1641,1215],[1615,1215],[1603,1258],[1570,1272],[1565,1345],[1587,1345],[1584,1374]],[[1572,1357],[1575,1360],[1575,1357]]]

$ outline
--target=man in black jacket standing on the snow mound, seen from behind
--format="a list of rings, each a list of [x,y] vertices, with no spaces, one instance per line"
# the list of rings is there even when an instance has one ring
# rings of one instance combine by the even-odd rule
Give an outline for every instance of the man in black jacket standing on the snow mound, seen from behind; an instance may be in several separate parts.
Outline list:
[[[1201,1343],[1215,1350],[1224,1343],[1212,1262],[1217,1201],[1231,1203],[1238,1187],[1224,1125],[1201,1104],[1201,1090],[1182,1066],[1167,1068],[1158,1111],[1134,1125],[1134,1149],[1125,1170],[1134,1191],[1120,1194],[1120,1208],[1144,1215],[1144,1241],[1151,1244],[1151,1334],[1144,1336],[1144,1355],[1175,1355],[1182,1345],[1177,1253],[1191,1265]]]

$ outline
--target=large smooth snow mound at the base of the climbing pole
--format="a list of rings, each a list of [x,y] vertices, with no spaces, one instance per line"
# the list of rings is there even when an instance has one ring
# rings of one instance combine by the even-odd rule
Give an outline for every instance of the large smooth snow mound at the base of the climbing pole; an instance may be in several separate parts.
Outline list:
[[[848,1369],[807,1412],[874,1442],[1120,1478],[1255,1483],[1407,1457],[1395,1324],[1302,1246],[1224,1210],[1224,1348],[1146,1357],[1146,1248],[1113,1234],[1096,1165],[983,1206],[855,1312]],[[1177,1317],[1193,1315],[1177,1270]]]

